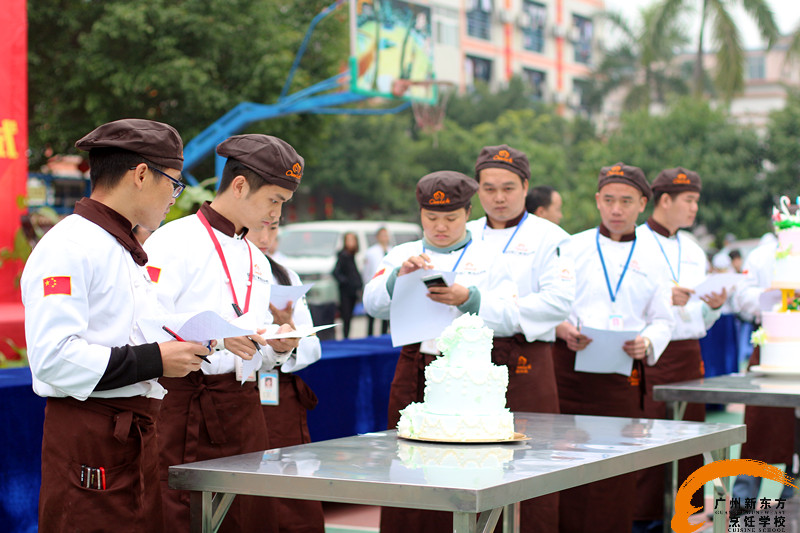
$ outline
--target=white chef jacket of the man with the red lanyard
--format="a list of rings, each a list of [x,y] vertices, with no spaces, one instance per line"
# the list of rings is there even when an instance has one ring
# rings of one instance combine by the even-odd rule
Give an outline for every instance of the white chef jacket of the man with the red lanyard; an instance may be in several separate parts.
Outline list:
[[[269,289],[272,270],[256,245],[241,236],[229,237],[212,227],[228,264],[239,307],[255,315],[259,329],[272,324]],[[248,248],[250,252],[248,253]],[[214,243],[197,215],[190,215],[159,228],[145,241],[148,268],[160,269],[155,284],[158,300],[167,313],[199,313],[212,310],[226,320],[236,318],[228,276]],[[250,258],[253,261],[253,289],[249,311],[245,310]],[[265,356],[272,347],[262,346]],[[234,372],[237,355],[219,350],[209,356],[210,364],[200,365],[205,374]],[[266,359],[266,357],[265,357]],[[266,360],[264,361],[267,364]],[[267,368],[262,367],[264,370]]]

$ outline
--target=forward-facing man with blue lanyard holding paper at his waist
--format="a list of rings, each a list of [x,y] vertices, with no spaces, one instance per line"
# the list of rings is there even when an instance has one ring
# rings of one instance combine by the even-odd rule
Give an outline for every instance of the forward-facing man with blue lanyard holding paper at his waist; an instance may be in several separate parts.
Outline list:
[[[573,235],[575,304],[557,328],[554,347],[558,394],[565,414],[641,417],[645,365],[654,365],[670,341],[674,320],[670,287],[660,275],[663,257],[641,246],[636,219],[652,196],[644,172],[617,163],[603,167],[595,195],[602,222]],[[575,354],[592,339],[582,326],[634,330],[638,335],[616,349],[631,357],[629,376],[575,370]],[[563,531],[630,531],[636,475],[626,474],[561,493]],[[585,502],[592,502],[587,513]]]

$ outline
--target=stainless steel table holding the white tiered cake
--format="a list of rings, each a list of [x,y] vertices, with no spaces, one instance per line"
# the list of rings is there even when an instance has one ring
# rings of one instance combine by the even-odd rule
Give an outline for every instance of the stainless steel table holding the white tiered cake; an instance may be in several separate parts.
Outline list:
[[[437,444],[394,431],[172,466],[192,531],[216,531],[234,495],[432,509],[457,533],[519,531],[518,502],[703,452],[728,457],[742,425],[515,413],[530,440]],[[216,494],[214,494],[216,493]],[[621,502],[620,505],[627,505]]]

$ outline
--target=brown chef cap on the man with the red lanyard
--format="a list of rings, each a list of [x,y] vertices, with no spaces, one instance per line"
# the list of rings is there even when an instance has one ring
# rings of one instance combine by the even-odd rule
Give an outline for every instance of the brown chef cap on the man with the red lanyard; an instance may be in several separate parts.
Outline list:
[[[296,191],[305,161],[289,143],[271,135],[234,135],[217,146],[217,153],[233,158],[267,183]]]

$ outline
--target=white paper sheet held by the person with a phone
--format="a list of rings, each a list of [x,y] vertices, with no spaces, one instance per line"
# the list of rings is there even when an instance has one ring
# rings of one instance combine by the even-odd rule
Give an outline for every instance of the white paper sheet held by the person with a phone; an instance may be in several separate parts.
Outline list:
[[[427,296],[428,288],[422,278],[431,274],[441,274],[448,285],[456,279],[455,272],[424,269],[397,277],[389,313],[392,346],[435,339],[453,321],[449,305],[434,302]]]

